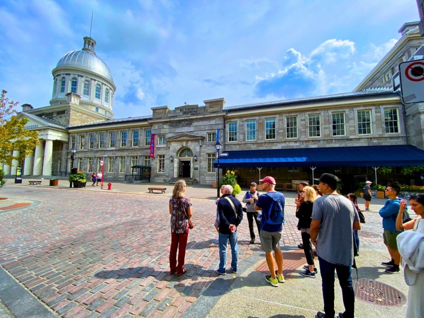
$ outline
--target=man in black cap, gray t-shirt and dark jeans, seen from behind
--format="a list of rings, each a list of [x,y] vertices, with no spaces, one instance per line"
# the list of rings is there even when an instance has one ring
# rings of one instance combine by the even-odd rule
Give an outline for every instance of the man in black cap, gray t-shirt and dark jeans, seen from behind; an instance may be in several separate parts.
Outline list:
[[[334,318],[334,272],[336,270],[344,312],[339,317],[353,318],[355,295],[351,266],[353,264],[353,230],[360,230],[358,212],[353,204],[337,193],[339,178],[330,173],[320,177],[324,194],[315,200],[312,210],[311,242],[317,247],[322,278],[324,312],[318,318]]]

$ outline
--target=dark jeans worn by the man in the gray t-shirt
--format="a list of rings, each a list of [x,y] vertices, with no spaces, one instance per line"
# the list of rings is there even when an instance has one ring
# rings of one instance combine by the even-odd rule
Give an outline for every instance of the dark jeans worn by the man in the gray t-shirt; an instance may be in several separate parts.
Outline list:
[[[323,280],[324,312],[326,317],[334,317],[334,270],[337,272],[341,294],[343,295],[343,318],[353,318],[355,309],[355,293],[353,291],[352,268],[346,265],[332,264],[318,256],[320,273]]]

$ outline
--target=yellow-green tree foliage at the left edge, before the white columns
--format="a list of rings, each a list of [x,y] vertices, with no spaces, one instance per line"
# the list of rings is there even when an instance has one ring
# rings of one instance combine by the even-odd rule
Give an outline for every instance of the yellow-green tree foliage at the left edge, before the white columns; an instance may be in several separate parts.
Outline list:
[[[24,129],[28,119],[13,115],[18,102],[9,101],[6,93],[2,90],[0,96],[0,163],[11,165],[12,160],[20,161],[32,154],[38,145],[38,132]],[[13,156],[13,151],[19,152],[17,156]]]

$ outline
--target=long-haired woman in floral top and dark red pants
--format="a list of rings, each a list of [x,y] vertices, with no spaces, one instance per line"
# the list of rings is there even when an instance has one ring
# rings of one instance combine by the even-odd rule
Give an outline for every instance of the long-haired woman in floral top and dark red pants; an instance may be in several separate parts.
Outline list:
[[[171,247],[170,247],[170,274],[176,273],[179,277],[187,269],[182,267],[185,258],[185,246],[188,239],[188,219],[191,218],[191,202],[184,192],[187,185],[184,180],[175,182],[170,198],[171,215]],[[178,265],[176,251],[178,249]]]

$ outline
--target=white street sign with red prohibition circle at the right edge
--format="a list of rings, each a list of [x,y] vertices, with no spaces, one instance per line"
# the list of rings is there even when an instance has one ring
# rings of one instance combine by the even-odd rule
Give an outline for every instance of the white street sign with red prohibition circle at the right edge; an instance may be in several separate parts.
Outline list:
[[[424,101],[424,60],[399,64],[401,96],[404,104]]]

